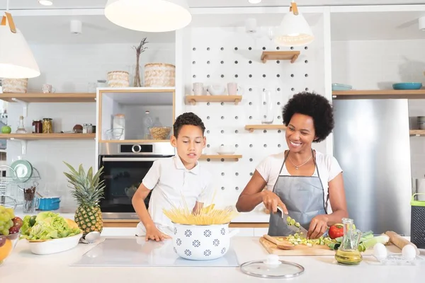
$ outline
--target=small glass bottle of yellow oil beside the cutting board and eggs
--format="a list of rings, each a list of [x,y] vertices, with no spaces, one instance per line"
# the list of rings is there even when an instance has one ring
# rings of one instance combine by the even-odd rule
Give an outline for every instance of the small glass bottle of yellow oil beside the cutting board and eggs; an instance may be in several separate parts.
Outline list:
[[[361,238],[361,231],[353,229],[353,219],[343,218],[344,236],[341,246],[336,250],[335,259],[341,265],[358,265],[362,260],[358,244]]]

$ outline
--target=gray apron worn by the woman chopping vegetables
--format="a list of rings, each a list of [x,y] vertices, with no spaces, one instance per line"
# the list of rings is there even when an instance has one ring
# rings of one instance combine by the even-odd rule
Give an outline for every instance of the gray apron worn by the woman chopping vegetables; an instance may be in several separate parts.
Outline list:
[[[289,216],[308,230],[314,216],[327,214],[324,209],[324,190],[320,181],[319,169],[317,168],[316,158],[313,158],[317,176],[280,175],[288,154],[283,160],[273,192],[285,204]],[[286,218],[282,219],[280,211],[270,212],[269,236],[289,236],[293,233],[286,225]]]

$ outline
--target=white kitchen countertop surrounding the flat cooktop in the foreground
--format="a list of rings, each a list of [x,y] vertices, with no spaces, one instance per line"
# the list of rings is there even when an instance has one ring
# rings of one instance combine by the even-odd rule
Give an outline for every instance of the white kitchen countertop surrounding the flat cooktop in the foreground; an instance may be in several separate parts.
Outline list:
[[[111,237],[130,238],[130,237]],[[234,237],[231,240],[239,263],[266,258],[258,237]],[[52,255],[30,253],[28,243],[19,241],[13,254],[0,267],[1,282],[283,282],[284,279],[261,279],[244,275],[239,267],[69,267],[93,245],[79,244],[72,250]],[[421,250],[421,256],[425,251]],[[305,267],[305,272],[290,282],[423,282],[424,265],[370,265],[364,256],[357,266],[337,265],[334,257],[280,257]],[[25,280],[23,278],[26,278]],[[149,280],[149,281],[148,281]]]

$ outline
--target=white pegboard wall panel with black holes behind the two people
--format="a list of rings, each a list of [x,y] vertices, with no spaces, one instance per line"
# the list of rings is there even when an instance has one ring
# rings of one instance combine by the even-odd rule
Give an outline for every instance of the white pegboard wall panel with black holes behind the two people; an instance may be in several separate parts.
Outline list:
[[[288,146],[285,132],[280,130],[256,130],[252,133],[245,125],[261,124],[259,105],[261,90],[273,90],[275,117],[273,124],[282,125],[282,107],[300,91],[324,93],[324,43],[323,23],[313,27],[316,40],[307,47],[277,47],[267,37],[254,37],[234,28],[192,28],[186,38],[186,57],[183,71],[185,93],[193,95],[193,83],[222,85],[236,82],[244,89],[242,102],[196,103],[186,105],[186,112],[194,112],[205,123],[207,147],[204,154],[217,154],[221,144],[237,146],[239,161],[201,161],[213,175],[218,189],[217,202],[234,205],[240,192],[254,173],[256,166],[270,154],[276,154]],[[299,50],[295,63],[287,60],[261,62],[263,50]],[[188,74],[190,72],[190,75]],[[206,94],[206,91],[205,91]],[[226,91],[227,94],[227,91]],[[314,145],[325,153],[326,146]]]

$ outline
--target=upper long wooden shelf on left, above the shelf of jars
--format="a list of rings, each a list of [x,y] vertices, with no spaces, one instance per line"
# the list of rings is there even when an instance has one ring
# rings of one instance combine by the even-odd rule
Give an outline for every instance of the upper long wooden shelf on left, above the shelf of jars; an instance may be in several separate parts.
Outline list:
[[[26,103],[87,103],[96,102],[96,93],[0,93],[0,99]]]

